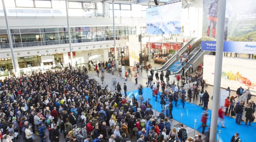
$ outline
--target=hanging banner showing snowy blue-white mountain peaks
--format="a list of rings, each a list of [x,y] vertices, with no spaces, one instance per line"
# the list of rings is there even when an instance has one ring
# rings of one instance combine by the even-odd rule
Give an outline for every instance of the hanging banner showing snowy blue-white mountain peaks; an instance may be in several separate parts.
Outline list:
[[[181,2],[146,9],[147,34],[181,34]]]

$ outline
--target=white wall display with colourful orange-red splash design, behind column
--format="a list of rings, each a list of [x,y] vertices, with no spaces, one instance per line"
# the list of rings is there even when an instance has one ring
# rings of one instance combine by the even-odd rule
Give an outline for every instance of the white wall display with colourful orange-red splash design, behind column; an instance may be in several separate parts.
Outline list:
[[[223,57],[221,72],[221,87],[230,87],[236,91],[240,86],[256,95],[256,60],[246,58]],[[204,55],[203,79],[213,85],[215,69],[215,56]],[[232,95],[232,94],[231,94]],[[235,94],[233,94],[235,95]]]

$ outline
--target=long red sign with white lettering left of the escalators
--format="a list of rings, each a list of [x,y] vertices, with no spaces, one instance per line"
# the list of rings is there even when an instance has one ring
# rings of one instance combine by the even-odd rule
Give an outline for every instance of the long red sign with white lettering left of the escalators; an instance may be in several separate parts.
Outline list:
[[[151,49],[180,50],[180,43],[147,42],[146,47]]]

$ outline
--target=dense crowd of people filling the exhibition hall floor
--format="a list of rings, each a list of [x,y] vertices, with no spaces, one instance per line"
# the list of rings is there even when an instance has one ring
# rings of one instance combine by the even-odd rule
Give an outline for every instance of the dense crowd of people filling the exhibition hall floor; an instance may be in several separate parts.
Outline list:
[[[0,81],[1,141],[17,142],[18,139],[25,139],[26,142],[32,142],[39,137],[41,142],[48,139],[51,142],[59,142],[60,139],[65,142],[193,142],[192,137],[187,136],[183,124],[180,124],[177,131],[171,126],[169,119],[173,118],[172,109],[177,106],[179,98],[185,108],[186,98],[191,102],[197,96],[200,97],[200,105],[204,105],[205,109],[201,120],[204,134],[209,94],[204,90],[206,83],[202,80],[201,73],[196,72],[192,77],[183,71],[181,76],[176,76],[177,81],[181,82],[176,85],[174,82],[169,84],[171,72],[167,71],[165,75],[160,72],[159,75],[158,72],[154,74],[154,70],[150,71],[147,85],[152,89],[152,96],[160,101],[162,109],[169,102],[166,105],[169,113],[165,115],[162,111],[158,119],[150,104],[138,102],[136,99],[132,99],[132,103],[127,100],[125,83],[125,95],[121,94],[122,87],[119,83],[114,92],[102,85],[105,64],[110,71],[108,65],[114,67],[113,61],[95,64],[98,76],[99,70],[102,72],[102,84],[87,75],[91,64],[92,61],[88,63],[89,70],[86,67],[79,67],[75,71],[68,68],[56,69],[44,73],[32,72],[18,78],[10,76]],[[125,75],[128,76],[127,71]],[[134,78],[137,84],[138,72]],[[196,84],[186,90],[184,85],[192,82]],[[162,93],[158,100],[160,89]],[[244,110],[246,124],[249,121],[250,125],[253,115],[249,114],[255,111],[255,103],[252,101],[244,107],[242,102],[235,103],[235,98],[227,98],[225,114],[235,111],[236,123],[240,125]],[[222,111],[219,112],[219,117],[223,117]],[[201,135],[195,141],[202,142]]]

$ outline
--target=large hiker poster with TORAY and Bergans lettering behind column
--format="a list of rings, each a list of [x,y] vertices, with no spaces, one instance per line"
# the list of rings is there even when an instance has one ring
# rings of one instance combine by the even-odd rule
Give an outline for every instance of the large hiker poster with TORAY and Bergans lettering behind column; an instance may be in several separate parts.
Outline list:
[[[227,0],[224,52],[256,54],[255,7],[256,0]],[[217,19],[218,0],[204,0],[202,50],[216,50]]]

